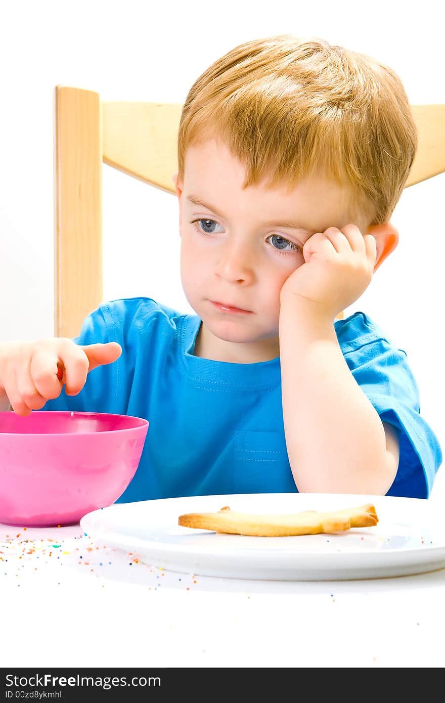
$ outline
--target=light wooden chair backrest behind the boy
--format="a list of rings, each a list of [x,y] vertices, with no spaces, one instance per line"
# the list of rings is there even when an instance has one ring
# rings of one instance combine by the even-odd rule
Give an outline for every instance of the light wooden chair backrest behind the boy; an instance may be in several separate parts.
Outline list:
[[[419,143],[405,187],[445,172],[445,105],[411,109]],[[102,163],[174,194],[181,110],[54,89],[56,337],[75,337],[103,302]]]

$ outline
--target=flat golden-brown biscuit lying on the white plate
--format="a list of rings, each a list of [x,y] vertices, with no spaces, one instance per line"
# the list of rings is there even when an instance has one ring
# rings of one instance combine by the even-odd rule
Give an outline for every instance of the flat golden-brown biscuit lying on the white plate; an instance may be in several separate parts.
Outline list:
[[[372,503],[344,510],[307,510],[291,515],[250,515],[247,512],[233,512],[226,505],[219,512],[188,512],[180,515],[178,520],[182,527],[256,537],[331,534],[351,527],[373,527],[377,523],[378,517]]]

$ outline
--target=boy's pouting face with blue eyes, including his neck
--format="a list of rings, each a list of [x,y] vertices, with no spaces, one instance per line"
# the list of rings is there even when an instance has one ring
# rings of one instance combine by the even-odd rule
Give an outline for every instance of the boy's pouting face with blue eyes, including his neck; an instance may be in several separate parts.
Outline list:
[[[366,223],[333,181],[302,181],[289,192],[264,185],[243,191],[244,179],[243,165],[214,140],[190,146],[183,183],[174,176],[181,280],[202,319],[195,354],[249,363],[279,355],[280,290],[304,264],[307,239],[349,223],[364,234]]]

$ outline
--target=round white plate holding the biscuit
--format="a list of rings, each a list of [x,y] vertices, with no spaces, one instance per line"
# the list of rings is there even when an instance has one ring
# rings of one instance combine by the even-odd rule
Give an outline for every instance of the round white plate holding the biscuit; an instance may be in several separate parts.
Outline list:
[[[373,503],[375,527],[337,534],[248,537],[179,527],[184,512],[290,513]],[[174,572],[236,579],[332,581],[405,576],[445,567],[445,529],[436,506],[420,498],[351,494],[237,494],[117,503],[80,521],[150,565]]]

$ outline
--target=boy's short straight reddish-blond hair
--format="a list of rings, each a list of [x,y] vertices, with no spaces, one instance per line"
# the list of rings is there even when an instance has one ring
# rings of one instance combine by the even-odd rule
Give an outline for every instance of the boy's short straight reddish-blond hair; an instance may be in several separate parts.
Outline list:
[[[195,81],[179,124],[180,179],[188,146],[207,138],[243,163],[243,188],[264,178],[292,188],[321,172],[352,186],[370,224],[389,220],[418,143],[394,70],[292,34],[240,44]]]

